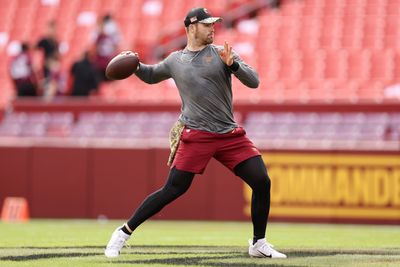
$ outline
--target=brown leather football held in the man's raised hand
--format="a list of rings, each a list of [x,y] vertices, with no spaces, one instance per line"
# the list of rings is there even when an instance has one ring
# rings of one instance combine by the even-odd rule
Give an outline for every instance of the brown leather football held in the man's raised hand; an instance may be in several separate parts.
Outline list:
[[[132,51],[123,51],[107,65],[106,76],[110,80],[122,80],[131,76],[139,66],[139,58]]]

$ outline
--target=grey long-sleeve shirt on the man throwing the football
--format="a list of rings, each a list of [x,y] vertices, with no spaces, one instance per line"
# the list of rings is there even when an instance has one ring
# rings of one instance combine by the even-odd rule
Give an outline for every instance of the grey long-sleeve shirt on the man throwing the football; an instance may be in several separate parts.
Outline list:
[[[235,52],[234,61],[239,68],[231,70],[221,60],[220,50],[223,46],[212,44],[196,52],[183,49],[155,65],[140,63],[135,74],[150,84],[172,78],[182,99],[179,120],[191,129],[226,133],[237,127],[231,74],[250,88],[257,88],[259,79],[257,72]]]

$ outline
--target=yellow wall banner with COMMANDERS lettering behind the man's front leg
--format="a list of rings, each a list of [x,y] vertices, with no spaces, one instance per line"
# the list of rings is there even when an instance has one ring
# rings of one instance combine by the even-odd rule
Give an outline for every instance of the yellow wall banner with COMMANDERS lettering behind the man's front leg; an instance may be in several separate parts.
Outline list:
[[[271,217],[400,220],[400,156],[266,153]],[[245,213],[251,192],[245,187]]]

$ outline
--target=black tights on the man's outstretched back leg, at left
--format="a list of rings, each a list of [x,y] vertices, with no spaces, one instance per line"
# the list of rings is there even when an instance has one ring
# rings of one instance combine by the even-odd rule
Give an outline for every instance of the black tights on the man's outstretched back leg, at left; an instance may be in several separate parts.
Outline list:
[[[193,177],[194,173],[172,168],[164,187],[149,195],[129,219],[129,228],[134,231],[145,220],[183,195],[189,189]]]

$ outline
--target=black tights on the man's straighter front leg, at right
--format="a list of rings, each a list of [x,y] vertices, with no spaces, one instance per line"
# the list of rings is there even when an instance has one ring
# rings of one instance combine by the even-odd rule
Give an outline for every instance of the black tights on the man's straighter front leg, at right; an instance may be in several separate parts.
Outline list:
[[[261,158],[256,156],[239,163],[235,174],[242,178],[253,190],[251,197],[251,219],[254,239],[265,237],[270,206],[271,180]]]

